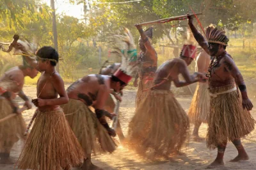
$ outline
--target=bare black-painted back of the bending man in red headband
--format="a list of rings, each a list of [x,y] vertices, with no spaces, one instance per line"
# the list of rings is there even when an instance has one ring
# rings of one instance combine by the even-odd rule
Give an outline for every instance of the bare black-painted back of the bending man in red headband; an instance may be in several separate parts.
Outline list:
[[[110,77],[108,75],[87,75],[67,88],[68,98],[81,100],[88,106],[93,105],[102,84],[107,86],[110,93]]]

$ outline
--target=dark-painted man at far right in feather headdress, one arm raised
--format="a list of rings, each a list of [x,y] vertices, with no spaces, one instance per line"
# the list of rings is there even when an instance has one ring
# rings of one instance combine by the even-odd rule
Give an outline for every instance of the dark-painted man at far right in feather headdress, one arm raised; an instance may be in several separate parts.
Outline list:
[[[246,86],[241,72],[227,53],[228,38],[225,31],[207,27],[206,37],[202,36],[188,16],[188,25],[199,45],[213,58],[209,65],[210,114],[208,119],[207,147],[218,148],[218,155],[209,168],[224,164],[223,156],[227,141],[236,146],[238,155],[232,162],[248,160],[249,157],[241,144],[241,137],[254,129],[250,110],[252,102],[247,96]]]

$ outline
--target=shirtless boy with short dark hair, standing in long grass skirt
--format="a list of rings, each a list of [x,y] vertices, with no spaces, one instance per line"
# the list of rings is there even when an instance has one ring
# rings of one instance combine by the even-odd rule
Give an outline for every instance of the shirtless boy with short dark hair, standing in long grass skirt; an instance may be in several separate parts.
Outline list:
[[[36,56],[42,74],[37,83],[37,98],[32,102],[38,109],[18,168],[60,170],[79,166],[84,158],[83,148],[59,106],[68,102],[68,96],[63,80],[55,70],[58,52],[52,47],[42,47]]]

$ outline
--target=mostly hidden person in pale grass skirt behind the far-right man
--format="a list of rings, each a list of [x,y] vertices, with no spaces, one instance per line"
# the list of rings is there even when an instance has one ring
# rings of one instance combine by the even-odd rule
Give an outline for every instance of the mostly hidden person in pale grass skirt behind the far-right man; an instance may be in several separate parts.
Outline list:
[[[196,72],[206,74],[210,60],[209,54],[202,49],[196,58]],[[208,82],[197,83],[194,97],[188,109],[189,121],[195,125],[193,130],[195,141],[202,141],[198,135],[198,130],[202,123],[207,123],[209,115],[210,95],[208,87]]]

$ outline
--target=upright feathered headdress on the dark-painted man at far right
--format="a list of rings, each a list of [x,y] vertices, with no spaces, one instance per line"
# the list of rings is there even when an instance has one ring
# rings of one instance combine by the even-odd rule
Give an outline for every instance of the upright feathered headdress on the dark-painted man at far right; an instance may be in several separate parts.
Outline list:
[[[228,45],[228,38],[225,35],[225,31],[209,26],[206,29],[206,38],[209,43],[220,43],[222,45]]]

